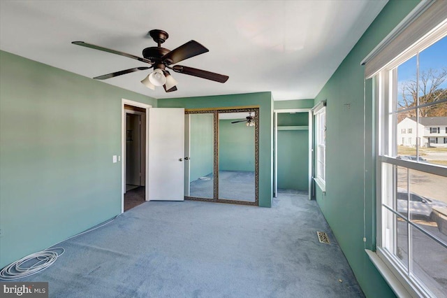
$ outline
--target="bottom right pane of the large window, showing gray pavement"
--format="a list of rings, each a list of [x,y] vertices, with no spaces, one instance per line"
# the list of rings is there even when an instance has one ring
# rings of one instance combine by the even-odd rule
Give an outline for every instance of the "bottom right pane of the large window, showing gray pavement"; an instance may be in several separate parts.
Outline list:
[[[447,293],[447,249],[411,227],[412,271],[437,297]]]

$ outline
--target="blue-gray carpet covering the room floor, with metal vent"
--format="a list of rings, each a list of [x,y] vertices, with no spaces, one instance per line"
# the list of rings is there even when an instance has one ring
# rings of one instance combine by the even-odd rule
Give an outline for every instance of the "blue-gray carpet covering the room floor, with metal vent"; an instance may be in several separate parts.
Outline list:
[[[328,232],[330,244],[316,231]],[[58,246],[50,297],[364,297],[315,201],[147,201]]]

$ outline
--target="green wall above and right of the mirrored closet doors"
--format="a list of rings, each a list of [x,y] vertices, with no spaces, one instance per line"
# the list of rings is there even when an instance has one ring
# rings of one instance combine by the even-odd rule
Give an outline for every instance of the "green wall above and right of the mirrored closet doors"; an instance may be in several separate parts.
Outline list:
[[[273,100],[271,92],[159,99],[160,108],[259,106],[259,206],[272,206]]]

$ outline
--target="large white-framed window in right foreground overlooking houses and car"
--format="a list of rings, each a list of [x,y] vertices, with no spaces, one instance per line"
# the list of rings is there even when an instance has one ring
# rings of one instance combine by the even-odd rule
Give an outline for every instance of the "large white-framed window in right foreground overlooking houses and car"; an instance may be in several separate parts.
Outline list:
[[[424,129],[418,127],[447,121],[446,69],[447,23],[375,76],[379,94],[377,254],[420,297],[446,297],[447,293],[447,148],[430,148],[440,137],[429,137],[429,148],[420,142],[416,148],[400,148],[397,122],[411,115],[418,122],[415,133],[420,140]],[[439,127],[430,127],[430,133],[439,132]],[[398,155],[408,158],[397,159]]]

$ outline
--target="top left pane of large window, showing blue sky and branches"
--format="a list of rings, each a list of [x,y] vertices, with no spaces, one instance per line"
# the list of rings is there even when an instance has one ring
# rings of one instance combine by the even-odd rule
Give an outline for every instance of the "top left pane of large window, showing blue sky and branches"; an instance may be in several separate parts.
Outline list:
[[[416,56],[406,60],[406,62],[397,66],[397,89],[394,90],[397,102],[393,111],[400,111],[404,108],[416,106],[417,86],[417,58]],[[416,116],[416,111],[406,112],[407,117]]]

